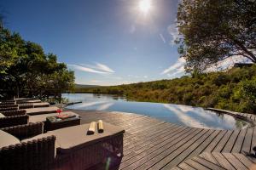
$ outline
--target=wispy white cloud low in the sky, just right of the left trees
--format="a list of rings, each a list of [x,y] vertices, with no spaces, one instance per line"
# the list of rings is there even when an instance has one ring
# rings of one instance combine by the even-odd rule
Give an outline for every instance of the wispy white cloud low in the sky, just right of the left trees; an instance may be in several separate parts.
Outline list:
[[[101,63],[96,63],[96,65],[67,65],[74,70],[78,71],[85,71],[85,72],[91,72],[91,73],[97,73],[97,74],[111,74],[114,73],[111,68],[108,67],[108,65],[103,65]]]

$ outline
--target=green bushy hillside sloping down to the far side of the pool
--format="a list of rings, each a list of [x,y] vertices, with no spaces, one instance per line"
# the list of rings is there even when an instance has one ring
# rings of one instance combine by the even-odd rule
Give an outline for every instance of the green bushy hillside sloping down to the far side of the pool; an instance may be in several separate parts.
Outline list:
[[[119,94],[128,100],[215,107],[256,113],[256,65],[196,73],[172,80],[76,88],[77,93]]]

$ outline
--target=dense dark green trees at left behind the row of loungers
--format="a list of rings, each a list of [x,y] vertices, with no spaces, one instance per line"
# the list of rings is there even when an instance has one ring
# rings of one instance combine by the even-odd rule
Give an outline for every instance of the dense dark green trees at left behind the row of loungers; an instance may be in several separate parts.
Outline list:
[[[35,42],[0,27],[0,90],[22,95],[60,95],[73,88],[73,71],[57,62],[55,54],[45,54]]]

